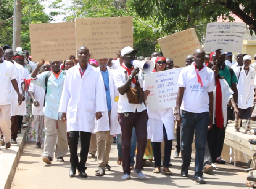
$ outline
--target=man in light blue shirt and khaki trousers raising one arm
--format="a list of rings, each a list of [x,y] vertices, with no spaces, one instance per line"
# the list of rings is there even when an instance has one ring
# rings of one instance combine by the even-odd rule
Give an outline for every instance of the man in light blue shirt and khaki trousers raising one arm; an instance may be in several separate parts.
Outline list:
[[[50,66],[52,71],[45,71],[37,75],[43,64],[43,60],[38,63],[37,67],[29,76],[29,79],[31,79],[31,83],[43,87],[46,91],[44,104],[46,133],[42,158],[43,162],[51,164],[55,147],[57,162],[64,162],[63,157],[68,152],[67,127],[66,123],[60,120],[61,114],[58,111],[66,72],[61,71],[60,61],[51,61]],[[44,99],[41,100],[43,103]],[[56,129],[57,124],[58,129]],[[57,142],[55,143],[56,137]]]

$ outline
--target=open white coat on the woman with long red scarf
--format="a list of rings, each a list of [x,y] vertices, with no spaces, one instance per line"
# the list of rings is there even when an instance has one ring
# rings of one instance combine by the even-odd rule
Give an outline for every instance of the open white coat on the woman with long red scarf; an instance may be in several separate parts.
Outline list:
[[[221,83],[221,102],[222,102],[222,115],[224,120],[224,127],[227,126],[227,105],[230,99],[233,97],[233,91],[229,87],[229,84],[225,79],[219,80]],[[215,123],[214,118],[216,117],[216,85],[213,90],[213,123]]]

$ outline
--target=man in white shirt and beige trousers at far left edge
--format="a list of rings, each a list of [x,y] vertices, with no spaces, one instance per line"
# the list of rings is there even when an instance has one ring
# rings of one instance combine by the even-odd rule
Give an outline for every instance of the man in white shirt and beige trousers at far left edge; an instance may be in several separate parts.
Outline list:
[[[3,131],[5,148],[11,147],[11,85],[13,85],[18,94],[18,103],[21,105],[22,96],[19,93],[18,83],[16,81],[16,70],[10,61],[2,60],[3,48],[0,47],[0,127]]]

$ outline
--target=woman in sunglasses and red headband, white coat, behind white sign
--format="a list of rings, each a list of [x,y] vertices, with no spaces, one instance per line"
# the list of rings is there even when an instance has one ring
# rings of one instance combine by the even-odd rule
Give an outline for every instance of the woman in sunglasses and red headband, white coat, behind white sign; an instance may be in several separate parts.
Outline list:
[[[155,63],[156,72],[166,70],[166,59],[164,57],[157,57]],[[161,172],[161,142],[163,142],[164,138],[163,171],[166,175],[172,175],[172,172],[169,170],[172,139],[174,138],[174,119],[172,108],[156,111],[150,111],[148,109],[148,117],[155,161],[155,170],[153,172]]]

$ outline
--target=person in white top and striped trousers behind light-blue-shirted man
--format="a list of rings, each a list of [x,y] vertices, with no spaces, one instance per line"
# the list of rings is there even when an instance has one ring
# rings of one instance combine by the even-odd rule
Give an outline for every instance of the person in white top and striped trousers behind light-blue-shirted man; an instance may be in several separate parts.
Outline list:
[[[50,65],[44,64],[41,66],[40,70],[41,72],[51,71],[51,68]],[[41,148],[44,128],[43,102],[45,99],[45,89],[40,85],[31,83],[29,86],[29,96],[34,104],[32,114],[34,115],[35,137],[37,141],[35,148]]]

